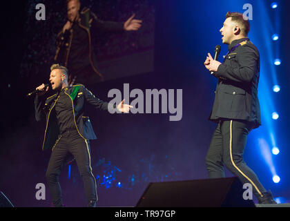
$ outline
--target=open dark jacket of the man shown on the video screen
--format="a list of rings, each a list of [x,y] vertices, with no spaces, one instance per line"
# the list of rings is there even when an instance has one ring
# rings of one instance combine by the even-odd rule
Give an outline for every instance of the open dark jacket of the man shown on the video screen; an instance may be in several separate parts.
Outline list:
[[[79,13],[79,19],[77,24],[80,28],[83,28],[88,33],[88,57],[90,59],[90,65],[97,75],[102,77],[101,73],[97,70],[97,64],[95,59],[95,53],[93,53],[91,30],[106,30],[106,31],[122,31],[124,30],[124,23],[114,21],[101,21],[97,16],[90,11],[89,8],[84,8]],[[55,52],[55,61],[63,66],[68,67],[68,60],[70,55],[70,48],[72,44],[73,32],[72,28],[66,30],[64,33],[62,30],[57,34],[57,50]]]

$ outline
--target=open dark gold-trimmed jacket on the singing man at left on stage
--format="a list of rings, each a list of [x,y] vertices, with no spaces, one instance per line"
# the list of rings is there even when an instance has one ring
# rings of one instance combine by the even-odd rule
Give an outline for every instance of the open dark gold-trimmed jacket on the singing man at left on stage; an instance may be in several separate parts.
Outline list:
[[[108,110],[108,108],[114,108],[114,106],[95,97],[95,95],[93,95],[90,90],[86,89],[82,84],[65,88],[66,95],[70,97],[73,88],[76,86],[79,86],[79,90],[75,99],[71,99],[75,126],[79,135],[81,135],[85,140],[95,140],[97,137],[93,131],[92,125],[90,124],[89,117],[86,116],[86,104],[90,104],[95,108],[104,111]],[[52,148],[59,135],[59,126],[57,124],[57,117],[54,109],[58,98],[59,96],[57,96],[57,93],[46,99],[38,96],[35,97],[35,119],[37,122],[41,119],[46,119],[46,131],[44,132],[42,150]]]

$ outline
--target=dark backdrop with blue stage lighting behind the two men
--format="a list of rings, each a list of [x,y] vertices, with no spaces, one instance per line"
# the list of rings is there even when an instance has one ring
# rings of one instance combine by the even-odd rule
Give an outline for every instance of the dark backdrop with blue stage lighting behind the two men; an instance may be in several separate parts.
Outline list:
[[[271,1],[262,2],[266,6],[271,5]],[[289,21],[289,1],[278,2],[280,24],[285,27]],[[110,3],[112,7],[115,5],[114,1]],[[90,109],[91,122],[98,137],[98,140],[91,142],[98,206],[135,206],[149,182],[206,178],[204,157],[215,128],[215,124],[209,122],[207,117],[213,104],[217,81],[209,75],[203,64],[206,53],[211,52],[213,55],[215,45],[222,44],[218,30],[222,27],[227,11],[242,12],[244,3],[251,3],[253,21],[249,37],[260,52],[267,48],[262,41],[266,36],[262,31],[255,30],[263,22],[257,1],[160,0],[149,3],[153,4],[155,12],[153,70],[86,87],[106,101],[109,101],[110,89],[118,88],[122,91],[125,83],[130,84],[131,90],[165,88],[175,89],[176,93],[177,89],[182,89],[182,119],[170,122],[169,113],[110,115]],[[31,50],[28,48],[28,41],[31,41],[28,37],[35,35],[33,30],[28,32],[26,28],[28,15],[33,15],[26,11],[28,8],[26,1],[17,1],[17,4],[11,1],[1,12],[0,190],[6,193],[14,206],[50,206],[48,189],[46,200],[35,198],[36,184],[46,184],[45,172],[50,151],[41,151],[44,126],[34,120],[33,99],[26,99],[30,90],[48,79],[50,64],[41,66],[35,60],[26,61],[27,51]],[[105,12],[102,13],[106,16]],[[148,25],[143,23],[144,27]],[[54,34],[57,31],[52,30]],[[277,78],[282,90],[279,95],[272,95],[280,112],[274,131],[281,153],[275,156],[273,162],[281,181],[273,183],[271,169],[258,147],[258,139],[267,131],[267,124],[249,135],[244,154],[245,161],[258,174],[264,186],[271,189],[275,197],[284,198],[290,198],[290,152],[287,146],[287,113],[290,111],[288,36],[289,29],[281,28],[279,51],[282,65],[279,66]],[[43,42],[43,47],[45,45],[46,42]],[[41,45],[35,47],[41,48]],[[39,52],[39,49],[35,50]],[[227,47],[223,45],[220,56],[225,55],[226,50]],[[121,52],[119,55],[124,54]],[[262,56],[266,54],[261,52]],[[35,63],[32,65],[30,62]],[[23,66],[29,65],[32,65],[30,72],[23,73]],[[130,69],[128,66],[123,68]],[[264,77],[267,77],[266,73]],[[271,90],[271,87],[260,89],[261,86],[259,96],[262,96],[264,90]],[[263,116],[262,121],[264,117],[267,116]],[[230,173],[227,175],[231,176]],[[86,205],[83,184],[75,162],[72,162],[70,168],[66,166],[60,182],[66,206]]]

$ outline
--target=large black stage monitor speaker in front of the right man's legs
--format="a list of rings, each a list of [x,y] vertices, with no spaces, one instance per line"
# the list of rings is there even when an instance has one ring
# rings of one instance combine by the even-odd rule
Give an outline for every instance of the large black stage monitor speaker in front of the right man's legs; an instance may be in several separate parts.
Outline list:
[[[151,182],[137,207],[255,207],[238,177]]]

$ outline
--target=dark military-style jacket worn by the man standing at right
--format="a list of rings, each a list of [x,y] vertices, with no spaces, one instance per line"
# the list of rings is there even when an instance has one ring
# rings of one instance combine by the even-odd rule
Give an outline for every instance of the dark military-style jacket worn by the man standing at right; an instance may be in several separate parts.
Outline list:
[[[213,73],[218,78],[215,101],[209,117],[218,119],[240,119],[261,125],[260,104],[258,100],[258,81],[260,77],[260,54],[248,38],[235,40],[240,46],[226,56],[224,63]]]

